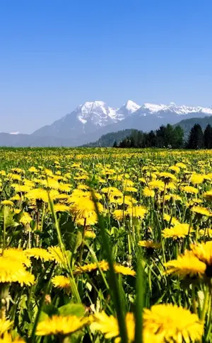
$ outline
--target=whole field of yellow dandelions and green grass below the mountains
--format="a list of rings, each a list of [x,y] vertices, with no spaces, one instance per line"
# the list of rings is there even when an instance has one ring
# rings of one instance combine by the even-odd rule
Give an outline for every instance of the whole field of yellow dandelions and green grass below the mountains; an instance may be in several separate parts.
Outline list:
[[[0,343],[212,342],[212,151],[0,152]]]

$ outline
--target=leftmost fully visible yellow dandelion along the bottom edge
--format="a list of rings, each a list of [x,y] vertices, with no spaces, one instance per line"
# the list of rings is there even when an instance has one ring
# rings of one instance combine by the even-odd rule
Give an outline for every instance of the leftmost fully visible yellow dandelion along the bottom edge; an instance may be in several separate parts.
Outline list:
[[[67,315],[66,317],[52,315],[51,318],[38,323],[36,335],[70,335],[82,329],[88,322],[89,318],[80,318],[76,315]]]

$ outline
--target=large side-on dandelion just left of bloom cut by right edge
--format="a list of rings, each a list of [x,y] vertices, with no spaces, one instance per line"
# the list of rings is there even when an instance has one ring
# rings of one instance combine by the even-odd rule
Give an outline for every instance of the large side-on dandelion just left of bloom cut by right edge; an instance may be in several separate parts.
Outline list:
[[[172,260],[164,264],[167,267],[165,274],[175,274],[180,277],[202,276],[206,270],[206,264],[201,262],[192,251],[186,251],[184,255],[179,255],[177,260]]]

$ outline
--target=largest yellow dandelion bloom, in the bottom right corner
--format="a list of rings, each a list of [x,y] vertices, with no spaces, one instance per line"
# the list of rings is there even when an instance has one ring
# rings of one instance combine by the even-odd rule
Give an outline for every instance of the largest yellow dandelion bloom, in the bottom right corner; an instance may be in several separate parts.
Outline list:
[[[150,332],[163,335],[164,342],[196,342],[204,331],[204,323],[196,314],[170,303],[145,309],[143,325]]]

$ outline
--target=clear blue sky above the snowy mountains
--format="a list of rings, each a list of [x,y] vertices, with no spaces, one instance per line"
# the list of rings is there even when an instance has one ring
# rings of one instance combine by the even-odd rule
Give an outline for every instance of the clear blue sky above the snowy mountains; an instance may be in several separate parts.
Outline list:
[[[0,132],[86,101],[212,105],[211,0],[0,0]]]

